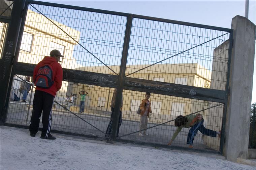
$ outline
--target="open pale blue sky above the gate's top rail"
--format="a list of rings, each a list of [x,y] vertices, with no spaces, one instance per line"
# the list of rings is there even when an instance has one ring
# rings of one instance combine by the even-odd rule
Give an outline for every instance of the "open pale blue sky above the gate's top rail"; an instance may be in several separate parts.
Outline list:
[[[87,8],[118,11],[183,22],[231,28],[231,20],[236,15],[245,16],[245,0],[130,0],[130,1],[88,1],[88,0],[42,0],[45,2],[81,6]],[[256,25],[256,0],[249,0],[249,20]],[[253,93],[256,94],[256,60],[254,61]],[[252,95],[252,103],[256,95]]]

